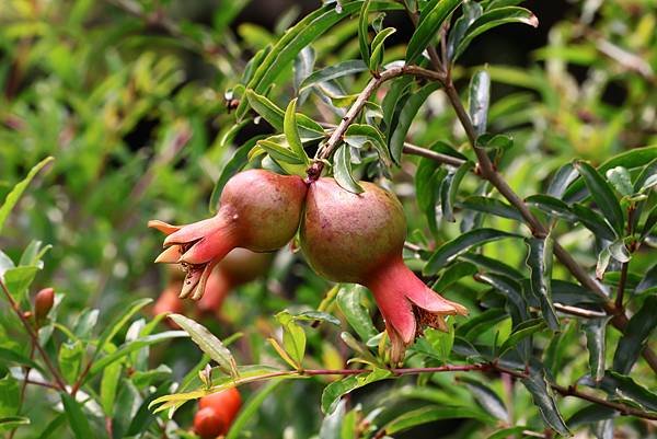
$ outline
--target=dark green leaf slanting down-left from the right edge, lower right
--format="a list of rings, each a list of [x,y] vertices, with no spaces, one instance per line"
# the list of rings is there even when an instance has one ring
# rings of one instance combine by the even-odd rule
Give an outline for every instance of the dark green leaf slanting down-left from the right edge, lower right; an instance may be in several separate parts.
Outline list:
[[[630,373],[648,336],[657,325],[655,310],[657,310],[657,296],[650,296],[646,298],[638,312],[630,319],[625,335],[619,342],[613,356],[613,370]]]

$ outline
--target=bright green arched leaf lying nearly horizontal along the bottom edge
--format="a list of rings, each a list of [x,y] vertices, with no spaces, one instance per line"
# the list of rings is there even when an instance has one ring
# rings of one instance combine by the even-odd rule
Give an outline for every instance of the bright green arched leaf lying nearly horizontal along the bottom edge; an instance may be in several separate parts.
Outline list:
[[[434,423],[440,419],[477,419],[483,423],[492,423],[493,418],[480,411],[462,406],[429,405],[416,408],[397,416],[388,423],[383,429],[387,435],[395,435],[418,425]]]

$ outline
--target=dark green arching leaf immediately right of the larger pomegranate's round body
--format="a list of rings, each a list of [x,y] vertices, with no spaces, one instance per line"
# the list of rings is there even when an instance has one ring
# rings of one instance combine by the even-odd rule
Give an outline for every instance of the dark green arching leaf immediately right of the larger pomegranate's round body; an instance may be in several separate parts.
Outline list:
[[[449,264],[458,256],[468,252],[473,246],[483,245],[487,242],[503,240],[505,238],[520,238],[519,234],[503,232],[495,229],[475,229],[468,233],[442,244],[429,258],[424,267],[425,275],[435,275],[445,265]]]

